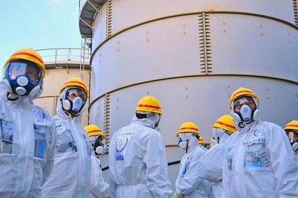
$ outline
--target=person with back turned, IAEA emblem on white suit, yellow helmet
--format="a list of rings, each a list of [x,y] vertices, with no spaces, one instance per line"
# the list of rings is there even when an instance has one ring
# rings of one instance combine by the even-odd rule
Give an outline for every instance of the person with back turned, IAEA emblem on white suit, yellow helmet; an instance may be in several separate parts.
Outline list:
[[[170,197],[165,145],[156,128],[159,101],[144,96],[129,126],[113,134],[109,148],[111,197]]]

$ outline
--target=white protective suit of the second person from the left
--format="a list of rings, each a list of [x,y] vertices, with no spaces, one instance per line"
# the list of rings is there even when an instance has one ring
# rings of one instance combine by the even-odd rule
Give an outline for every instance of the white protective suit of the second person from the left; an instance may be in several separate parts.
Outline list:
[[[64,98],[66,90],[60,96]],[[90,171],[93,149],[84,128],[79,124],[80,116],[67,116],[62,105],[57,105],[54,117],[57,128],[57,146],[54,168],[42,186],[43,197],[91,197]]]

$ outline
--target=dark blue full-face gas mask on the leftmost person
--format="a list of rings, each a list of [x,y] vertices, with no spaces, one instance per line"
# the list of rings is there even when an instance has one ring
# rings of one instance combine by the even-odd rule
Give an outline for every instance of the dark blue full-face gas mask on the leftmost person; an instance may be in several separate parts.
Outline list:
[[[4,84],[9,93],[34,96],[42,87],[42,72],[35,64],[12,61],[6,66]]]

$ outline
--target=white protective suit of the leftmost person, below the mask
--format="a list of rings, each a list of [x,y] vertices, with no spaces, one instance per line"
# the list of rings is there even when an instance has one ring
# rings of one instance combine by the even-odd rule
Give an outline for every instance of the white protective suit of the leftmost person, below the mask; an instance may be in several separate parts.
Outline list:
[[[52,171],[56,130],[48,112],[33,104],[41,92],[11,101],[0,82],[0,197],[41,197]]]

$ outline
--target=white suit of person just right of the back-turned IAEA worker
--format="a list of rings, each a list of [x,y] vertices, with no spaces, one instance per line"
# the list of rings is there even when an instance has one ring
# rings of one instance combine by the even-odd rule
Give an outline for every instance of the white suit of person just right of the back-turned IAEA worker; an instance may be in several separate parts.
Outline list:
[[[191,133],[188,133],[191,135]],[[182,134],[184,135],[184,134]],[[176,192],[186,198],[211,197],[211,183],[197,177],[197,165],[206,151],[198,144],[195,136],[191,135],[188,153],[181,159],[179,175],[176,180]]]

